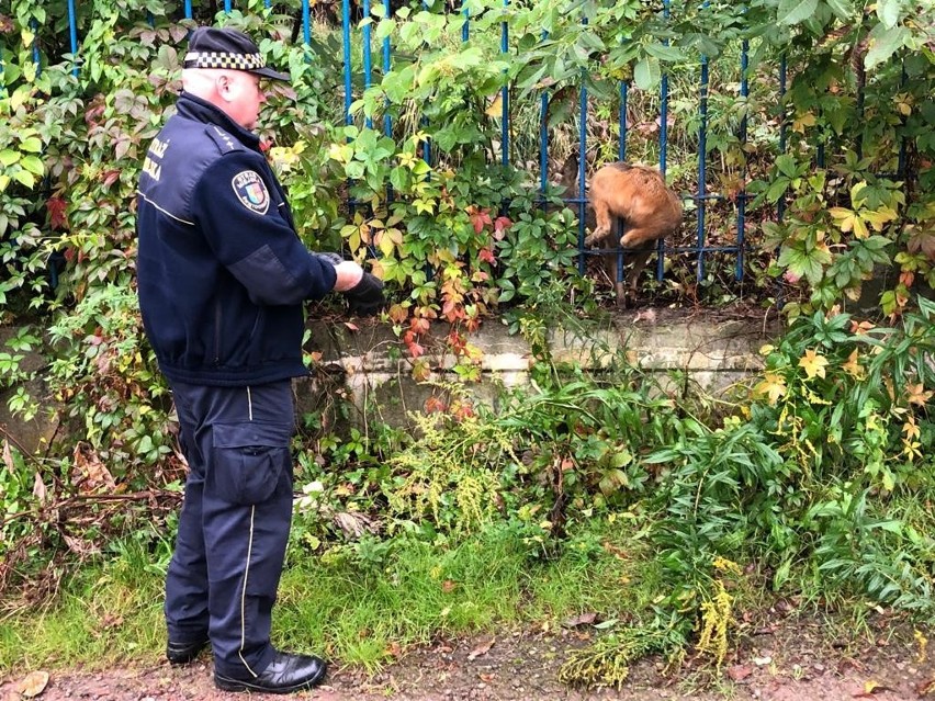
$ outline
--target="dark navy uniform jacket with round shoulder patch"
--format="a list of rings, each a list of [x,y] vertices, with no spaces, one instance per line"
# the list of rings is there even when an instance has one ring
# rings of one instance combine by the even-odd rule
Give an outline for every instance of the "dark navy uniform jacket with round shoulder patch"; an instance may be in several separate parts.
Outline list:
[[[170,382],[240,386],[306,374],[305,299],[335,268],[300,241],[259,138],[182,93],[138,190],[143,323]]]

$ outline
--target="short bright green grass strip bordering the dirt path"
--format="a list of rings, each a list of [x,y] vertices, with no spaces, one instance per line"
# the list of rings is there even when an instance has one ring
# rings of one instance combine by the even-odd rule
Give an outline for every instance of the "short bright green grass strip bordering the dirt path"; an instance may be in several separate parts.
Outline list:
[[[349,546],[296,558],[280,585],[273,644],[375,670],[439,635],[557,625],[582,611],[622,618],[657,596],[662,581],[638,542],[606,520],[585,530],[555,559],[508,524],[459,542],[401,536],[369,561]],[[158,663],[162,576],[127,551],[85,569],[54,604],[0,622],[0,672]]]

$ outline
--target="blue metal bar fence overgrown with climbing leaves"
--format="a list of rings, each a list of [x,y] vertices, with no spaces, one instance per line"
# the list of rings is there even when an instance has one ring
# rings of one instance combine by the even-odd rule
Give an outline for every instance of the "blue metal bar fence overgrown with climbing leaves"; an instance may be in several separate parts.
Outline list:
[[[264,5],[267,8],[270,7],[271,0],[264,0]],[[509,0],[504,0],[504,7],[508,7]],[[424,5],[427,3],[424,3]],[[71,46],[72,55],[78,55],[79,44],[78,44],[78,33],[77,33],[77,21],[76,21],[76,7],[75,0],[68,0],[68,16],[69,16],[69,41]],[[224,0],[224,9],[226,12],[230,12],[232,0]],[[385,14],[388,16],[391,12],[391,1],[383,0],[383,9]],[[361,0],[360,10],[363,13],[363,16],[371,15],[371,3],[370,0]],[[192,19],[193,16],[193,8],[192,0],[184,0],[183,7],[184,16],[187,19]],[[465,21],[462,30],[462,41],[467,41],[470,35],[470,18],[467,16],[467,11],[462,10],[465,15]],[[667,19],[669,16],[669,0],[664,0],[663,5],[664,16]],[[371,36],[371,25],[370,23],[363,23],[361,27],[354,27],[353,22],[351,20],[352,16],[352,7],[351,0],[341,0],[341,21],[342,21],[342,41],[343,41],[343,89],[345,89],[345,120],[347,124],[352,123],[351,116],[351,103],[353,100],[353,67],[351,60],[351,38],[353,31],[360,31],[362,33],[362,46],[363,46],[363,60],[362,60],[362,71],[363,71],[363,84],[364,87],[370,87],[373,80],[373,60],[372,60],[372,36]],[[306,44],[311,43],[311,31],[312,31],[312,18],[311,18],[311,2],[309,0],[302,0],[301,5],[301,18],[303,24],[303,38]],[[667,42],[666,42],[667,43]],[[748,83],[748,45],[746,42],[743,43],[742,52],[741,52],[741,95],[745,99],[750,94],[750,83]],[[509,26],[506,21],[502,23],[500,29],[500,52],[503,54],[509,54]],[[38,63],[38,49],[35,48],[35,57]],[[392,46],[390,38],[386,37],[383,39],[382,45],[382,68],[385,71],[388,71],[392,65]],[[690,201],[695,203],[695,216],[696,216],[696,240],[691,246],[676,246],[676,245],[667,245],[664,240],[657,241],[657,265],[656,265],[656,276],[661,280],[663,276],[663,267],[664,267],[664,258],[666,253],[686,253],[696,256],[696,276],[700,281],[705,276],[705,263],[706,257],[709,253],[713,252],[722,252],[736,257],[736,265],[735,265],[735,278],[741,280],[744,273],[744,244],[746,240],[746,226],[747,226],[747,194],[745,191],[741,191],[736,194],[734,199],[735,206],[735,222],[736,222],[736,238],[733,242],[726,246],[711,246],[709,244],[707,237],[707,210],[708,203],[712,201],[724,201],[724,196],[717,193],[709,193],[707,186],[707,132],[708,132],[708,87],[709,87],[709,65],[708,57],[701,56],[700,58],[700,79],[698,86],[698,117],[699,117],[699,128],[697,134],[697,191],[695,193],[683,194],[683,199],[685,201]],[[78,72],[78,64],[76,61],[76,66],[74,68],[74,72],[77,75]],[[786,93],[786,81],[787,81],[787,66],[785,56],[780,57],[779,67],[778,67],[778,93],[781,97]],[[619,146],[618,154],[621,160],[626,159],[627,156],[627,139],[628,139],[628,128],[627,128],[627,104],[628,104],[628,90],[629,86],[626,82],[621,82],[619,86],[619,95],[620,95],[620,109],[619,109]],[[510,162],[510,103],[509,103],[509,90],[504,88],[502,94],[503,102],[503,114],[502,114],[502,162],[504,165],[509,165]],[[578,268],[581,272],[585,271],[586,258],[588,256],[594,255],[607,255],[613,253],[618,256],[618,275],[620,280],[622,280],[623,274],[623,257],[626,253],[631,253],[632,251],[624,251],[619,247],[609,248],[609,249],[599,249],[599,250],[586,250],[584,247],[585,239],[585,207],[587,206],[587,194],[585,188],[585,176],[586,176],[586,159],[584,155],[587,152],[587,114],[589,109],[589,100],[587,90],[585,88],[581,89],[579,92],[579,108],[578,108],[578,154],[582,157],[578,159],[578,190],[576,193],[567,193],[571,196],[565,199],[565,202],[576,208],[578,212],[579,218],[579,231],[578,231]],[[548,163],[549,163],[549,131],[547,127],[547,113],[549,110],[549,98],[548,95],[542,95],[541,98],[541,124],[539,129],[539,163],[540,163],[540,188],[544,192],[547,188],[547,176],[548,176]],[[660,169],[663,174],[666,172],[667,166],[667,147],[668,147],[668,110],[669,110],[669,84],[668,84],[668,76],[663,74],[661,86],[660,86],[660,133],[658,133],[658,152],[660,152]],[[370,121],[367,122],[368,126],[372,126]],[[392,131],[391,117],[388,115],[384,116],[383,123],[384,132],[390,135]],[[746,117],[743,118],[741,126],[739,138],[742,145],[746,144],[747,140],[747,121]],[[787,140],[787,125],[785,120],[779,125],[779,148],[780,151],[785,151]],[[428,145],[424,149],[424,157],[427,160],[431,160],[431,154],[428,149]],[[816,162],[821,167],[824,161],[824,149],[822,145],[818,146],[816,150]],[[904,162],[904,149],[901,149],[900,152],[900,167],[902,168],[902,163]],[[784,202],[780,200],[777,206],[777,216],[779,218],[782,217],[784,214]],[[618,280],[618,282],[620,281]]]

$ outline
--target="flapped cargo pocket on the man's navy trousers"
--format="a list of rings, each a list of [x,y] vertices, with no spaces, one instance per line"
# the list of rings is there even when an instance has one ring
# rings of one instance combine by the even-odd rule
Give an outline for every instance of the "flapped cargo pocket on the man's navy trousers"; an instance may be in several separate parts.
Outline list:
[[[291,488],[292,425],[241,421],[215,423],[214,491],[230,504],[260,504],[269,499],[280,480]]]

